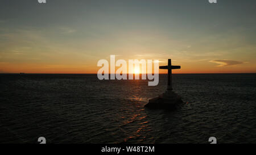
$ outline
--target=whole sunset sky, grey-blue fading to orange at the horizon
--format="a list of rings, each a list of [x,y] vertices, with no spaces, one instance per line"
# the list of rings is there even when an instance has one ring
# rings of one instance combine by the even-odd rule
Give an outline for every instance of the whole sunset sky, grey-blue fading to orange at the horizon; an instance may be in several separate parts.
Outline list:
[[[256,73],[256,1],[46,2],[0,0],[0,73],[97,73],[110,55]]]

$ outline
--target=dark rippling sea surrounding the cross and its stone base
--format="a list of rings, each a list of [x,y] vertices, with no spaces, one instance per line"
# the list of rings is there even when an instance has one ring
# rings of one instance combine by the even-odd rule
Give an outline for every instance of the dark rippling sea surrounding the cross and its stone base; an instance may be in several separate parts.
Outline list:
[[[0,74],[0,143],[256,143],[256,74],[174,74],[184,103],[144,108],[147,80],[96,74]]]

